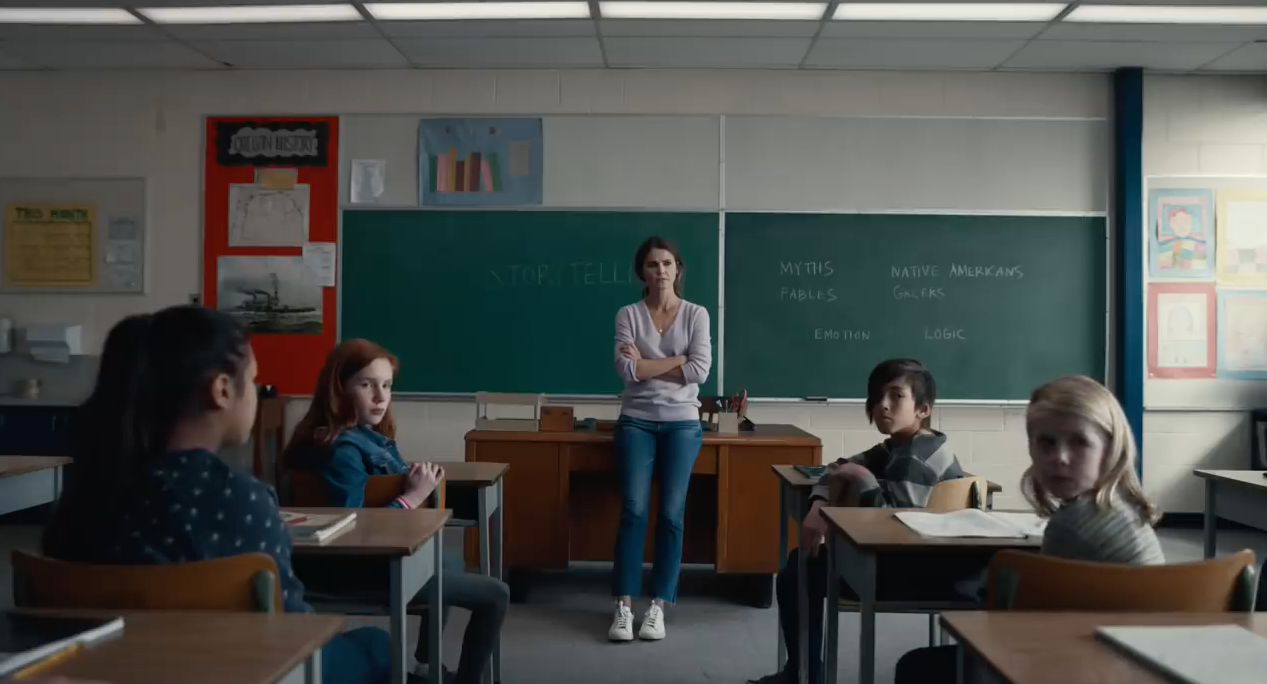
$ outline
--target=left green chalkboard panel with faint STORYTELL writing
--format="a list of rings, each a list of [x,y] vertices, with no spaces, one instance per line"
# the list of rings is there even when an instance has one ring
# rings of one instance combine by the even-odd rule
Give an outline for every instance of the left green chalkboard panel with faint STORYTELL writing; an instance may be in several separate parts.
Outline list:
[[[650,236],[677,242],[716,341],[716,213],[408,209],[343,212],[340,337],[399,356],[397,391],[618,394],[616,310]]]

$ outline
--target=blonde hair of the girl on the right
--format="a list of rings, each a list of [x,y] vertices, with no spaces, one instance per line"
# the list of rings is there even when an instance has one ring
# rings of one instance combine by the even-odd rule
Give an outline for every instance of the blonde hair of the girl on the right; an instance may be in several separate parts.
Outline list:
[[[1085,375],[1058,377],[1030,395],[1025,412],[1026,432],[1033,429],[1034,421],[1050,414],[1077,415],[1096,426],[1106,437],[1104,465],[1091,488],[1096,507],[1109,510],[1114,500],[1120,499],[1139,514],[1142,523],[1157,523],[1161,517],[1157,507],[1144,495],[1144,488],[1135,476],[1135,436],[1112,393]],[[1033,465],[1021,476],[1021,493],[1043,517],[1050,517],[1060,505],[1043,488]]]

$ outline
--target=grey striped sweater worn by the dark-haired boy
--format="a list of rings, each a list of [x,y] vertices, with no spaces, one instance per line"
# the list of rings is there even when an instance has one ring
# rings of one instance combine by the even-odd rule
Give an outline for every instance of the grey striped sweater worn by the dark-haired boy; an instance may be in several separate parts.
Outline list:
[[[963,478],[946,436],[935,429],[921,429],[910,440],[889,437],[836,462],[858,464],[870,472],[860,483],[858,499],[868,508],[922,508],[938,483]],[[810,497],[831,502],[831,475],[825,472]]]

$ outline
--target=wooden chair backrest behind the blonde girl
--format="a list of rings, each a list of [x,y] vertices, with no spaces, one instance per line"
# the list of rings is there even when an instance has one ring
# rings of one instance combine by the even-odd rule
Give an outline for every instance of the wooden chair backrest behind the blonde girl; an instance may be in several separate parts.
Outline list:
[[[1197,562],[1124,565],[1000,551],[986,603],[1017,611],[1221,613],[1253,611],[1254,554]]]

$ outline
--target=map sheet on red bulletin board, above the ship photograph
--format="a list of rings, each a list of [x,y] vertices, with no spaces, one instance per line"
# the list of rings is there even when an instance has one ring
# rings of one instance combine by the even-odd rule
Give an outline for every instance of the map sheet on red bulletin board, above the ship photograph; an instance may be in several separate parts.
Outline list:
[[[229,247],[303,247],[307,241],[307,185],[229,185]]]

